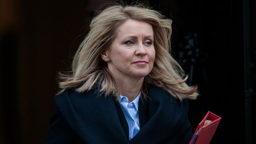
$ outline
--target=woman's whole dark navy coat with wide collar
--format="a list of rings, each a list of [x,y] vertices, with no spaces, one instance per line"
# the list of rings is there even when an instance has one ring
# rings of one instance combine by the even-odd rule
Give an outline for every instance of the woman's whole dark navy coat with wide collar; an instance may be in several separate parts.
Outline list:
[[[188,144],[192,128],[188,102],[180,102],[159,87],[148,88],[148,102],[139,101],[140,131],[130,141],[118,102],[96,90],[65,90],[55,96],[46,144]]]

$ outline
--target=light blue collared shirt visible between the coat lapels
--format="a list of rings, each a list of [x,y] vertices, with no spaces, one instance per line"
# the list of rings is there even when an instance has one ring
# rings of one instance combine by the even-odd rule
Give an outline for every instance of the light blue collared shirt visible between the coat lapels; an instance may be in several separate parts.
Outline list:
[[[139,95],[129,103],[128,98],[120,95],[118,100],[123,110],[125,119],[129,127],[129,140],[131,140],[140,131],[139,122]]]

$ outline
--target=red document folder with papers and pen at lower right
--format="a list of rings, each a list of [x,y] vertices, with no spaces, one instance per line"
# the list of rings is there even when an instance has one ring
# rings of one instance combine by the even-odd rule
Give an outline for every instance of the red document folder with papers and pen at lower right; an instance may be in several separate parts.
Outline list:
[[[204,122],[206,120],[210,120],[212,122],[204,126]],[[204,119],[198,124],[189,144],[209,144],[220,120],[221,117],[208,111]]]

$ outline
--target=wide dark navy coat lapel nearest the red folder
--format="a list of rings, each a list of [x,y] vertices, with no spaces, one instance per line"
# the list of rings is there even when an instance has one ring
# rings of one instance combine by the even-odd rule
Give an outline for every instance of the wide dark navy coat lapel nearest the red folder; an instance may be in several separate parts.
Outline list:
[[[179,100],[162,88],[150,87],[148,96],[149,120],[131,139],[131,144],[163,143],[180,127],[182,106]]]

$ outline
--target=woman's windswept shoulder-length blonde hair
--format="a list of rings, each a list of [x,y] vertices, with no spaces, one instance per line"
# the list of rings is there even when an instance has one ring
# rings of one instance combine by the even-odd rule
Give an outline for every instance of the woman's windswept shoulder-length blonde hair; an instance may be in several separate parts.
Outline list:
[[[90,31],[77,50],[72,64],[71,75],[60,74],[62,89],[76,88],[78,92],[99,88],[105,96],[119,98],[117,83],[107,68],[101,54],[108,49],[118,27],[127,19],[145,21],[154,31],[155,62],[152,71],[144,78],[142,95],[147,97],[147,86],[162,87],[175,98],[194,100],[198,96],[197,87],[189,87],[187,76],[181,66],[170,55],[172,20],[159,12],[142,5],[110,6],[93,18]]]

